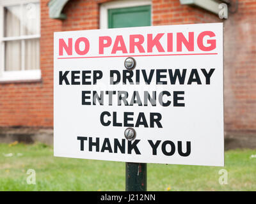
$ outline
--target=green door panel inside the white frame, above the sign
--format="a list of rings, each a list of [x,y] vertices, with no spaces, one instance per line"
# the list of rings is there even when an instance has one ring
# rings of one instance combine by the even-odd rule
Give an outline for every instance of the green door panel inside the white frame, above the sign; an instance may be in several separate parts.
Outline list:
[[[113,8],[108,10],[108,27],[138,27],[151,25],[151,6]]]

